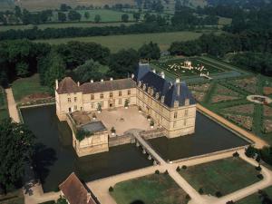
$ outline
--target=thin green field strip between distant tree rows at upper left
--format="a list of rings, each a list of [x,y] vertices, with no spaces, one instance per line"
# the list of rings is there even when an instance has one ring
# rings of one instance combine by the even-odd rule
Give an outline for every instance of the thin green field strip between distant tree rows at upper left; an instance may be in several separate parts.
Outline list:
[[[34,26],[37,26],[39,29],[45,28],[66,28],[66,27],[104,27],[104,26],[119,26],[121,24],[130,25],[134,23],[102,23],[94,24],[90,22],[78,22],[78,23],[53,23],[53,24],[16,24],[16,25],[0,25],[0,32],[8,31],[10,29],[14,30],[24,30],[32,29]]]

